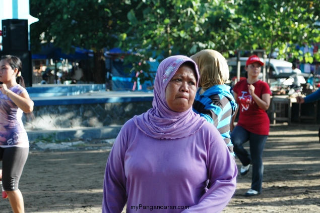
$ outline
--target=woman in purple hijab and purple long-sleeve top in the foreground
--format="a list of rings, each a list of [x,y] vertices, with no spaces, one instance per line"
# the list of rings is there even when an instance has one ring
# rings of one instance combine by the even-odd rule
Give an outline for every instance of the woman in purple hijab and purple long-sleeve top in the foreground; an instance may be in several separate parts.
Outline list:
[[[237,168],[220,133],[192,110],[199,72],[193,60],[163,60],[153,108],[127,121],[109,154],[102,212],[220,212]],[[210,188],[206,188],[210,180]]]

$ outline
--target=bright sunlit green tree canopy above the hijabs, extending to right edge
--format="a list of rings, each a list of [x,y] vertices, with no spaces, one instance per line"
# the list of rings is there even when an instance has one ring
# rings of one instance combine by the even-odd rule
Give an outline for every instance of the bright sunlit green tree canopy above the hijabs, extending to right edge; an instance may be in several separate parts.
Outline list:
[[[279,58],[288,59],[299,52],[294,44],[319,42],[319,4],[261,0],[225,1],[131,1],[140,2],[127,14],[130,26],[121,34],[119,46],[132,49],[141,57],[142,69],[150,57],[171,54],[193,55],[212,48],[225,57],[235,50],[278,50]],[[303,33],[301,33],[303,32]],[[131,36],[129,36],[131,35]],[[301,56],[310,59],[307,55]],[[315,55],[317,57],[317,55]],[[126,58],[132,63],[132,58]]]

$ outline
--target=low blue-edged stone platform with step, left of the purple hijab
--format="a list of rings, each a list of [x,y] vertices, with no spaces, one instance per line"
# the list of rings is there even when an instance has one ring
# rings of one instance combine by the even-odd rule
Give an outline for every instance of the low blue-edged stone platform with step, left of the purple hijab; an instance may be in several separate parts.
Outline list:
[[[33,117],[23,123],[30,141],[114,138],[121,126],[152,108],[152,91],[105,91],[104,85],[51,85],[27,88]]]

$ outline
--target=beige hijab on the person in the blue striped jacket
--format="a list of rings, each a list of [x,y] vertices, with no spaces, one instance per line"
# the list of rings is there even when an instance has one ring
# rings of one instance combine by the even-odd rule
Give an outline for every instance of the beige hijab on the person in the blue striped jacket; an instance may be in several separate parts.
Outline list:
[[[208,88],[224,84],[229,79],[229,67],[226,59],[216,50],[204,49],[190,57],[199,68],[200,94]]]

